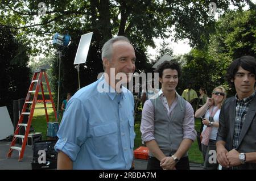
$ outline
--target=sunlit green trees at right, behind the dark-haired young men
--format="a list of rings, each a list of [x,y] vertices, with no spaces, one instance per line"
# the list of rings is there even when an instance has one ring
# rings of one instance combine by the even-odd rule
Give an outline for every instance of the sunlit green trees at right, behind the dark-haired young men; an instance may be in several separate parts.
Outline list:
[[[229,95],[234,95],[234,87],[225,81],[226,70],[238,57],[255,57],[255,37],[255,10],[228,12],[218,20],[208,46],[204,50],[193,49],[184,56],[183,82],[189,79],[197,90],[203,86],[208,92],[222,85]]]

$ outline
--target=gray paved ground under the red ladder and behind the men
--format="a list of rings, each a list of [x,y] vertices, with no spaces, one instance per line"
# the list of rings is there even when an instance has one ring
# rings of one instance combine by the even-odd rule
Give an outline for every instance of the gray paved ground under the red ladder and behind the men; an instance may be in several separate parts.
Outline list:
[[[6,158],[7,151],[9,149],[11,142],[0,141],[0,170],[31,170],[32,162],[32,147],[27,146],[23,161],[18,162],[18,151],[14,150],[11,158]],[[17,146],[20,146],[17,144]],[[135,170],[145,170],[147,166],[147,161],[143,159],[134,159]],[[191,170],[202,170],[203,166],[201,164],[190,163]]]

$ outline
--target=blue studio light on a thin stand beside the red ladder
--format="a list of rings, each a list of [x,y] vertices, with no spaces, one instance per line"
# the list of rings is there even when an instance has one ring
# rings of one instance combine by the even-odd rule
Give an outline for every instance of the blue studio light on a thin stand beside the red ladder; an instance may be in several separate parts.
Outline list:
[[[59,81],[58,81],[58,99],[57,99],[57,120],[59,121],[59,102],[60,102],[60,62],[61,62],[61,56],[62,51],[65,47],[68,47],[68,45],[71,43],[71,36],[68,35],[68,32],[66,35],[61,35],[60,33],[55,33],[52,37],[52,44],[53,46],[57,47],[57,53],[58,53],[58,61],[59,61]]]

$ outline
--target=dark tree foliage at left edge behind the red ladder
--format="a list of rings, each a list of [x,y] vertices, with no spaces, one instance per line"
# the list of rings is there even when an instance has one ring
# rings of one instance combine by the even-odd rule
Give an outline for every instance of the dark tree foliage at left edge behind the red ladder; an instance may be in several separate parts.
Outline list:
[[[7,106],[13,115],[13,100],[25,98],[30,85],[30,69],[25,45],[15,33],[0,26],[0,107]]]

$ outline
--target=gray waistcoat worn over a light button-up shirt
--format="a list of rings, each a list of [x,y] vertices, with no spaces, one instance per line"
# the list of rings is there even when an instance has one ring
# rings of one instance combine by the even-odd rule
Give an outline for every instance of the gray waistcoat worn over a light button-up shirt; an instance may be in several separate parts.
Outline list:
[[[154,106],[155,130],[154,136],[159,148],[165,155],[173,155],[183,140],[183,120],[185,116],[186,101],[178,94],[177,104],[172,110],[171,116],[167,115],[160,96],[150,99]],[[185,153],[183,157],[187,156]],[[150,156],[154,157],[152,153]]]

